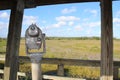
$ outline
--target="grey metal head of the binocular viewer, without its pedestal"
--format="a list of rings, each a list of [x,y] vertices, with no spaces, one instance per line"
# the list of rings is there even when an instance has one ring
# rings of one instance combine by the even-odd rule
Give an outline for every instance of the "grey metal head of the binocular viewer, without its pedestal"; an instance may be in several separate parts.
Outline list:
[[[40,49],[43,45],[43,53],[45,52],[45,34],[36,24],[31,24],[25,33],[26,53],[30,54],[29,50]],[[38,52],[37,52],[38,53]]]

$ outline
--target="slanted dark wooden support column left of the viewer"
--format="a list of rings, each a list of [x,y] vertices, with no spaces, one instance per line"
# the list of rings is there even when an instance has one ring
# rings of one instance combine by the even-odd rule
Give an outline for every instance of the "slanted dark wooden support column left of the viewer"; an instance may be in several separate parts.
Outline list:
[[[16,80],[24,0],[15,0],[11,9],[7,38],[4,80]]]

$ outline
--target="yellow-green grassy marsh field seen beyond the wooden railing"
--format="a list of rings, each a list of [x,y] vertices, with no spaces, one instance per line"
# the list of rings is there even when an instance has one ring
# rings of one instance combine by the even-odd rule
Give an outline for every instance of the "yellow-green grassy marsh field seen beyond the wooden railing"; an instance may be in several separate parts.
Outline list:
[[[6,40],[0,40],[0,52],[5,52]],[[101,42],[99,37],[73,37],[73,38],[46,38],[47,51],[46,58],[68,58],[97,60],[100,59]],[[26,56],[25,40],[22,38],[20,43],[20,56]],[[120,40],[114,39],[114,60],[120,59]],[[30,64],[21,64],[20,71],[30,72]],[[57,65],[42,64],[43,73],[55,73]],[[65,65],[65,75],[71,77],[84,77],[97,79],[100,75],[100,69],[94,67],[80,67]]]

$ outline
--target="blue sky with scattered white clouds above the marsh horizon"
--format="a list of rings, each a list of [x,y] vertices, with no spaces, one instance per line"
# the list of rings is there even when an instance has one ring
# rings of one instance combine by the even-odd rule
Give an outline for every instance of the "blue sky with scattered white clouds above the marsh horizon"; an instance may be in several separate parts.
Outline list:
[[[120,38],[120,1],[113,2],[113,36]],[[109,15],[109,14],[108,14]],[[0,37],[7,37],[10,10],[0,11]],[[21,37],[36,24],[48,37],[101,36],[99,2],[40,6],[24,10]]]

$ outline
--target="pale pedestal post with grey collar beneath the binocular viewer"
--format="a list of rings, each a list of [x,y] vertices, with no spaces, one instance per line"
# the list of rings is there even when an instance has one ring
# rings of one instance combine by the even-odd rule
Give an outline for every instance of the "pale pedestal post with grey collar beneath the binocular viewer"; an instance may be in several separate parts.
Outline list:
[[[41,71],[41,59],[42,54],[30,54],[31,67],[32,67],[32,80],[42,80],[42,71]]]

